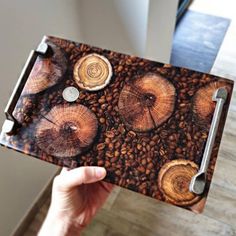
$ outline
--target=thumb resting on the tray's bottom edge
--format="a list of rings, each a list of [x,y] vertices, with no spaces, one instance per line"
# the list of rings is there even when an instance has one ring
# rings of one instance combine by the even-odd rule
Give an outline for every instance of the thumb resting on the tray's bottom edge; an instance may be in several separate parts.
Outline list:
[[[97,182],[105,176],[106,170],[103,167],[86,166],[73,170],[63,168],[61,174],[54,179],[54,185],[60,190],[70,190],[81,184]]]

